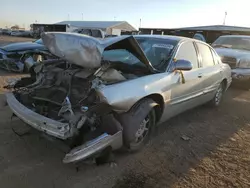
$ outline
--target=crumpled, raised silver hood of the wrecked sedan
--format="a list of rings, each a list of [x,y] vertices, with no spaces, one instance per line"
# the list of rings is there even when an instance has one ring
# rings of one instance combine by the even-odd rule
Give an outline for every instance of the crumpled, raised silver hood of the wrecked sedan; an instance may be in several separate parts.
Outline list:
[[[133,36],[101,40],[77,33],[49,32],[42,34],[42,40],[52,54],[84,68],[100,67],[105,50],[126,49],[156,71]]]

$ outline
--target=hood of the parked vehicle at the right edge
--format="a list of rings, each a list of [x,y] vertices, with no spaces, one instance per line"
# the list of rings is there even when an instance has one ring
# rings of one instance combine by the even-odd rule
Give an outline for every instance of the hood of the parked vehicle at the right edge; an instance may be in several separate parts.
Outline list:
[[[214,48],[219,56],[235,57],[236,59],[250,58],[250,51],[232,48]]]

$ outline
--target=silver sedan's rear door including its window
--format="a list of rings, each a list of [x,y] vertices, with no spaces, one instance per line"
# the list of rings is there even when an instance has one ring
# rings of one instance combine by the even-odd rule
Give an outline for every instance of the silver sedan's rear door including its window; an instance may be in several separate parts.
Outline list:
[[[207,100],[213,98],[216,89],[221,83],[222,70],[216,59],[214,50],[205,43],[196,42],[200,56],[201,76],[203,77],[203,92]]]

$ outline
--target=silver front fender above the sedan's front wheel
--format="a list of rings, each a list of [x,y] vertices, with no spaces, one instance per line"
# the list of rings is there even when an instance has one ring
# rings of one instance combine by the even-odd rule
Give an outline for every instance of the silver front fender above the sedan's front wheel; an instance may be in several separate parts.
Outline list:
[[[117,113],[123,113],[129,111],[136,102],[149,95],[159,94],[164,99],[164,91],[169,89],[167,83],[170,82],[170,77],[166,73],[159,73],[104,86],[97,89],[96,92],[101,102],[112,106]]]

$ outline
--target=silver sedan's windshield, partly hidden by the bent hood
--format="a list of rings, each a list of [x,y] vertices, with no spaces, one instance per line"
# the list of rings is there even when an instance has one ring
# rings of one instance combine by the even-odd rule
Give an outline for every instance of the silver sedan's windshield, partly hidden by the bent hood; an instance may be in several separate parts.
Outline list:
[[[177,41],[170,39],[136,38],[146,57],[156,69],[162,65],[167,66],[171,53],[177,45]],[[104,51],[103,59],[119,61],[130,65],[145,66],[137,57],[125,49]]]

